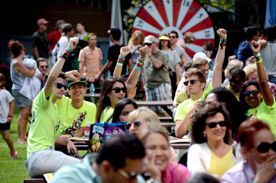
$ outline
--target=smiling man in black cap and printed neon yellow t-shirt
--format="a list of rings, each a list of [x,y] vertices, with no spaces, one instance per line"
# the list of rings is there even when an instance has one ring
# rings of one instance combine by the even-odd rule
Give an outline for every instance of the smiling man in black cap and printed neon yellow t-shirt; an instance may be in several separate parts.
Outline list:
[[[57,100],[60,123],[57,124],[57,136],[63,139],[82,137],[87,121],[95,123],[96,105],[83,100],[87,87],[83,77],[79,81],[68,80],[67,93],[71,99],[62,96]]]

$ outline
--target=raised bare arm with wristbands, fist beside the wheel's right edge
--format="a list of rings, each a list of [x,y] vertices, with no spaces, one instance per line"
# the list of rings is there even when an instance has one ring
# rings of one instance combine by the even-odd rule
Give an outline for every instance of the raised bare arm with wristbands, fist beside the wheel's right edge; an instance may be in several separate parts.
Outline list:
[[[214,62],[214,70],[212,75],[212,86],[213,88],[221,87],[221,75],[222,75],[222,65],[224,61],[225,55],[225,47],[226,47],[226,30],[225,29],[218,29],[216,31],[221,38],[220,46],[218,47],[218,53],[216,54],[216,59]]]

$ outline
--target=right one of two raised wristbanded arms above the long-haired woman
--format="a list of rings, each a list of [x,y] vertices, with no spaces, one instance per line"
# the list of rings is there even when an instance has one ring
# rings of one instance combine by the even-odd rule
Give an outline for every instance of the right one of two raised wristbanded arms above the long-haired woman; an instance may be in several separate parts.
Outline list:
[[[147,56],[147,45],[143,48],[139,49],[140,52],[140,56],[137,59],[137,63],[135,65],[135,67],[132,69],[129,78],[127,79],[127,95],[129,96],[130,93],[132,92],[132,89],[134,88],[134,86],[137,84],[137,81],[139,79],[140,73],[141,73],[141,68],[143,66],[144,63],[144,59]]]

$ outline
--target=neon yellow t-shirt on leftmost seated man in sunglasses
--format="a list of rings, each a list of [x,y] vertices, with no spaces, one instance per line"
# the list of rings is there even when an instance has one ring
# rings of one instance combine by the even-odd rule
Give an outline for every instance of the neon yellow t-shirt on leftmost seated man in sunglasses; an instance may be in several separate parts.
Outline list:
[[[53,91],[49,100],[45,97],[44,88],[32,102],[32,123],[29,130],[27,157],[30,153],[55,147],[55,125],[59,122],[57,105],[52,104]]]

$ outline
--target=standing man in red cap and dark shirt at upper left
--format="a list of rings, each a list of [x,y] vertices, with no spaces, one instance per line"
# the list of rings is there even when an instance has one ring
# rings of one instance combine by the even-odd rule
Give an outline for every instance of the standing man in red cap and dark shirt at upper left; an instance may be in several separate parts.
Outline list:
[[[38,30],[32,35],[32,51],[35,59],[38,59],[39,57],[43,57],[45,59],[49,58],[48,38],[45,33],[48,23],[49,21],[45,20],[45,18],[41,18],[37,21]]]

